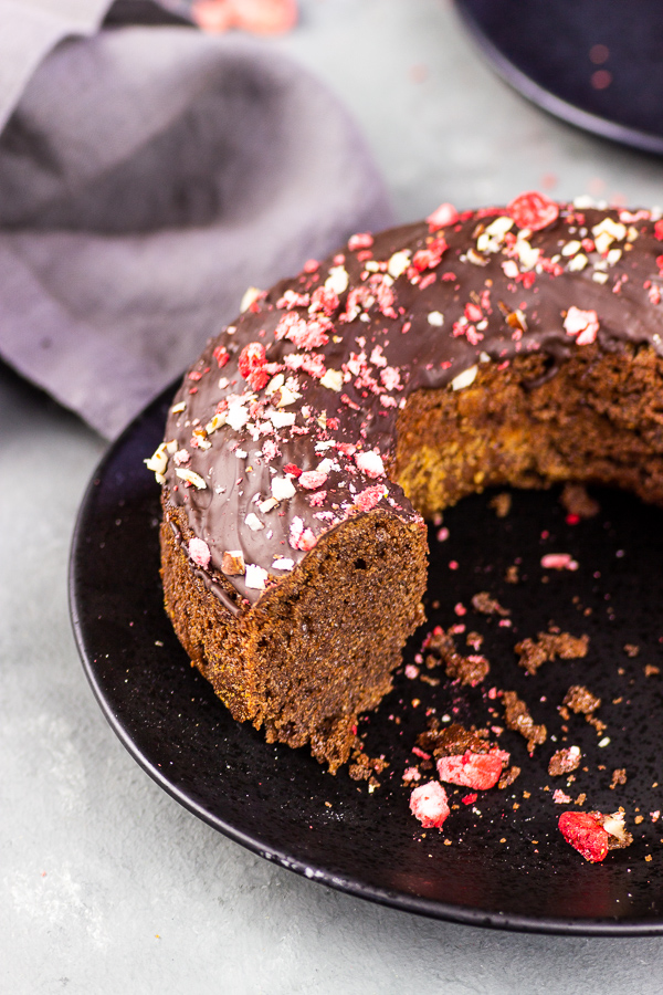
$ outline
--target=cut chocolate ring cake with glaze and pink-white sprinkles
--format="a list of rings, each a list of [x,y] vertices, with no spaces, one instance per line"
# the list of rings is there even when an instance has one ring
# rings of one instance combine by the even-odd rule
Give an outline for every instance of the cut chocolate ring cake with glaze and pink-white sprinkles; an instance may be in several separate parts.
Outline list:
[[[528,193],[248,292],[147,461],[168,614],[235,719],[345,763],[423,618],[424,519],[463,495],[663,502],[662,240]]]

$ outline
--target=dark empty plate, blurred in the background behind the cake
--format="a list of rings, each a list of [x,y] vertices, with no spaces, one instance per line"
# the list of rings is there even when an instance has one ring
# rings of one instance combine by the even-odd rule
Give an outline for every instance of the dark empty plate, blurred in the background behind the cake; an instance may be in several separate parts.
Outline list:
[[[660,0],[456,0],[481,51],[528,100],[604,138],[663,153]]]

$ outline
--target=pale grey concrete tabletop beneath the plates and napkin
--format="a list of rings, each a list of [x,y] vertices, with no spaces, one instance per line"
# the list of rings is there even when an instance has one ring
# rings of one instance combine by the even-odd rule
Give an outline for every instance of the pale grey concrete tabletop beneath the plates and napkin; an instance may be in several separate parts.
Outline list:
[[[443,0],[303,0],[270,42],[355,109],[402,220],[442,200],[663,200],[663,163],[524,103]],[[555,185],[552,185],[555,179]],[[225,840],[115,739],[74,647],[66,566],[104,443],[0,368],[0,992],[38,995],[663,989],[663,940],[495,933],[327,890]]]

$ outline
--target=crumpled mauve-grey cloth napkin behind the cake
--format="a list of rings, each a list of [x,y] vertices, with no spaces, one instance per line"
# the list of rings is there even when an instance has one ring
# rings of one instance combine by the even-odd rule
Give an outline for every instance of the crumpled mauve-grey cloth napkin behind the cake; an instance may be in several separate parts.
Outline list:
[[[0,356],[107,438],[267,286],[390,209],[302,67],[241,36],[0,0]]]

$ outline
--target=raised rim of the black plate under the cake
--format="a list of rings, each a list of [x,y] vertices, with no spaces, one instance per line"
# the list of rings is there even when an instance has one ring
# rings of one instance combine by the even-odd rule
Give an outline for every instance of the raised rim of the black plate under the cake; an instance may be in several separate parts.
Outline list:
[[[139,432],[141,423],[149,420],[154,416],[155,409],[166,404],[167,399],[172,396],[181,377],[170,384],[164,391],[154,398],[134,418],[124,431],[109,443],[101,460],[90,478],[83,499],[78,506],[76,521],[70,546],[69,570],[67,570],[67,593],[69,593],[69,611],[73,628],[76,649],[81,657],[81,662],[87,682],[92,689],[93,695],[102,711],[102,714],[108,722],[110,729],[118,737],[122,745],[128,754],[136,761],[139,767],[170,797],[178,802],[183,808],[209,825],[211,828],[221,832],[228,839],[239,844],[245,849],[263,857],[265,860],[277,863],[286,870],[294,871],[301,877],[311,881],[318,882],[336,891],[350,894],[373,903],[398,909],[403,912],[410,912],[423,915],[429,919],[453,922],[460,925],[472,925],[484,929],[494,929],[518,933],[535,933],[547,935],[567,935],[567,936],[653,936],[663,934],[662,920],[640,920],[624,919],[615,920],[612,918],[600,919],[575,919],[560,917],[540,917],[533,918],[513,912],[492,912],[484,909],[477,909],[469,905],[455,905],[450,902],[441,902],[434,899],[427,899],[420,896],[409,894],[393,889],[378,888],[375,884],[362,882],[351,876],[343,876],[334,873],[322,867],[313,866],[312,861],[305,861],[298,857],[286,853],[280,847],[267,844],[260,838],[259,834],[246,832],[238,829],[231,823],[209,811],[206,806],[196,798],[190,797],[186,792],[172,784],[162,769],[139,748],[131,737],[130,732],[123,723],[120,715],[116,714],[108,702],[102,682],[99,681],[93,661],[94,653],[90,651],[84,633],[84,624],[82,622],[78,605],[78,584],[77,573],[78,563],[85,555],[84,527],[88,514],[91,513],[92,498],[97,486],[97,481],[103,480],[104,473],[123,449],[126,441]]]

